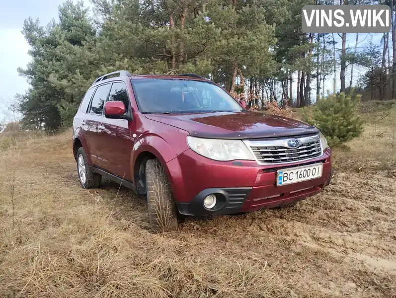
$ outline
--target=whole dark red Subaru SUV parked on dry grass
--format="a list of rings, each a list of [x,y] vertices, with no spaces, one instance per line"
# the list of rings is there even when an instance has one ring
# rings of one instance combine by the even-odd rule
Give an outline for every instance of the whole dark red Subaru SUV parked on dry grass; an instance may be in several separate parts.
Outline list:
[[[152,227],[178,215],[285,207],[331,179],[331,149],[317,128],[244,110],[196,74],[97,78],[73,123],[82,187],[110,178],[147,195]]]

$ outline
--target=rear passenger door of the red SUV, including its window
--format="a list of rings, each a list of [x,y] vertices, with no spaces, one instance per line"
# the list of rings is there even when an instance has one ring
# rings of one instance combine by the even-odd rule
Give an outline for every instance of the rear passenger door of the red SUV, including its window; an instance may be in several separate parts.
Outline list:
[[[91,104],[88,107],[88,116],[86,125],[89,128],[86,135],[87,143],[89,143],[91,160],[94,165],[106,169],[106,161],[101,157],[100,147],[104,138],[102,137],[102,130],[99,131],[99,125],[102,123],[104,102],[109,96],[111,83],[100,85],[92,97]]]

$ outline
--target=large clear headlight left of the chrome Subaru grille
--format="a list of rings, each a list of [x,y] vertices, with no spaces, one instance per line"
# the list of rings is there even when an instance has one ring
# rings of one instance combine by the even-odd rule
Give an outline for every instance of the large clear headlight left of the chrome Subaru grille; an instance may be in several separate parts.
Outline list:
[[[214,160],[254,160],[249,149],[240,140],[201,139],[187,136],[187,144],[198,154]]]

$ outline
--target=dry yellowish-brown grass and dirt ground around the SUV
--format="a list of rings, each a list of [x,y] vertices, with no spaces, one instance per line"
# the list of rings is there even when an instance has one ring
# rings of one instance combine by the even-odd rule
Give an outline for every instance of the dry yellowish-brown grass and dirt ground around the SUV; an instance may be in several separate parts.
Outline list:
[[[396,118],[375,121],[384,112],[335,150],[320,195],[167,234],[151,233],[132,191],[80,188],[70,132],[17,140],[0,152],[0,297],[396,297]]]

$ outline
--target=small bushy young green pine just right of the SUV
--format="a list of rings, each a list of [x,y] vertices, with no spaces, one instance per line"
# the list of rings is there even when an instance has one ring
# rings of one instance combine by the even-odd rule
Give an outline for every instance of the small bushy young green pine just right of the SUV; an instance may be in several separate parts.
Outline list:
[[[303,119],[321,131],[329,146],[342,144],[363,132],[363,120],[357,113],[360,98],[346,97],[344,93],[329,95],[319,99],[309,113],[304,110]]]

